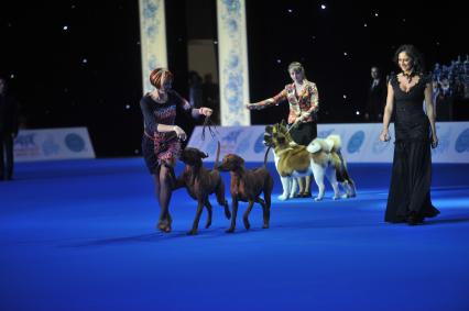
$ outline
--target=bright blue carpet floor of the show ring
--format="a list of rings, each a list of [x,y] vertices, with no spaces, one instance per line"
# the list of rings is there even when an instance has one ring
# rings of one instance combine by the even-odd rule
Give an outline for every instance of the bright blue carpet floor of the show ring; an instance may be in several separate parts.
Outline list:
[[[390,165],[350,164],[358,197],[327,185],[321,202],[279,201],[270,169],[270,229],[255,207],[244,230],[241,203],[225,233],[214,199],[187,236],[195,201],[177,190],[157,232],[141,158],[18,164],[0,182],[0,310],[469,310],[469,165],[434,165],[441,214],[412,227],[383,222]]]

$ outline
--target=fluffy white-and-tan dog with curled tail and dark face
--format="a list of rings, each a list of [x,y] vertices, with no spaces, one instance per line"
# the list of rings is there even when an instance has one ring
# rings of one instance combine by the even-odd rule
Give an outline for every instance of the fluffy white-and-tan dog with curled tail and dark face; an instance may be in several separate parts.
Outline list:
[[[356,196],[353,180],[349,177],[346,163],[340,154],[340,136],[329,135],[316,138],[308,146],[293,142],[284,121],[265,127],[264,143],[274,152],[275,167],[282,180],[283,193],[280,200],[293,198],[296,193],[296,178],[313,174],[318,186],[316,201],[325,193],[324,177],[327,177],[334,188],[332,199],[339,199],[338,181],[346,193],[342,198]]]

